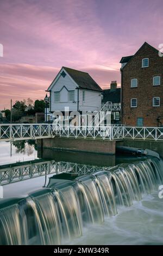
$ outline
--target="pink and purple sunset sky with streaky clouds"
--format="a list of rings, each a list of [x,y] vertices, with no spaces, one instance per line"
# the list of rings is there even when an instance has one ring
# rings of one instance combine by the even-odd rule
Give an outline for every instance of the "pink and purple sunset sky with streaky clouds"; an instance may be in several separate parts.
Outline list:
[[[61,66],[120,85],[120,59],[162,38],[162,0],[1,0],[0,109],[43,99]]]

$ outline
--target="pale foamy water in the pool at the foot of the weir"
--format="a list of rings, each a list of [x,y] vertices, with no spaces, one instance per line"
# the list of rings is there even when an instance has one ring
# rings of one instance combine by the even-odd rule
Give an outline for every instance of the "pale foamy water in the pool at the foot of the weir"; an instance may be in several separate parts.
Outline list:
[[[119,214],[109,217],[101,225],[87,225],[83,236],[71,245],[162,245],[163,199],[158,192],[144,196]]]

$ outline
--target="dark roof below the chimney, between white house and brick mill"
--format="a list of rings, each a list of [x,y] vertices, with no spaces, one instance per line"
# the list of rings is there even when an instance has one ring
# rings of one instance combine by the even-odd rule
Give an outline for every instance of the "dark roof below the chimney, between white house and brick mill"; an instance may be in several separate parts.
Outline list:
[[[103,100],[102,102],[111,101],[113,103],[121,102],[121,88],[116,88],[115,90],[106,89],[103,90]]]

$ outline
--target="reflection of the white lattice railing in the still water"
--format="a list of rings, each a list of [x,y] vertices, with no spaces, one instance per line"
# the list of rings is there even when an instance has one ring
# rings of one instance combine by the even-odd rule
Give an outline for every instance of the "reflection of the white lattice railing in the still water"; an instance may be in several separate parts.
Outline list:
[[[11,164],[0,169],[0,184],[5,185],[17,181],[32,179],[46,174],[73,173],[78,175],[92,174],[106,167],[91,166],[65,161],[42,161],[31,163]]]

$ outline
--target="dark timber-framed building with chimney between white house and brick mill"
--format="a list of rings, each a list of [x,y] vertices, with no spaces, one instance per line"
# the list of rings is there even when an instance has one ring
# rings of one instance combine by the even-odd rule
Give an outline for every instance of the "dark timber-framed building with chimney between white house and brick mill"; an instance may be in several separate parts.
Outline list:
[[[117,81],[111,81],[110,89],[103,90],[102,104],[112,102],[112,123],[119,123],[121,120],[121,88],[117,88]]]

